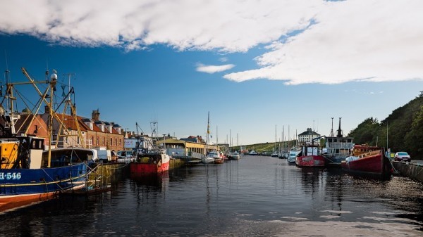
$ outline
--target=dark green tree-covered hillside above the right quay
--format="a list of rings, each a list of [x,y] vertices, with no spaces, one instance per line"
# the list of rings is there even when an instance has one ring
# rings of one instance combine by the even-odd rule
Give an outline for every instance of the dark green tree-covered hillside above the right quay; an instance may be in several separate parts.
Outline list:
[[[423,91],[412,101],[393,110],[385,120],[369,117],[348,136],[356,144],[391,148],[391,152],[407,151],[412,159],[423,158]]]

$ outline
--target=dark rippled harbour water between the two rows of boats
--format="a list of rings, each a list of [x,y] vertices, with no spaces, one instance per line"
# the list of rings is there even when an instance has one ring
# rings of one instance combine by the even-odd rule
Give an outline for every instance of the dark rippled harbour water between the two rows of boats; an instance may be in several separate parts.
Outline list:
[[[245,155],[6,212],[0,236],[423,236],[423,184]]]

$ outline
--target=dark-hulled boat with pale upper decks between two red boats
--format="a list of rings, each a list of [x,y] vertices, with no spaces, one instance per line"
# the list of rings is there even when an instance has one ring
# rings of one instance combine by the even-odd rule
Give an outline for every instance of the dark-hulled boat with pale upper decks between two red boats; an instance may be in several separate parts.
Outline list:
[[[354,147],[353,137],[344,137],[342,134],[341,117],[339,118],[338,133],[335,136],[332,128],[331,134],[326,136],[324,143],[322,155],[326,159],[326,166],[341,166],[341,162],[350,155],[351,149]]]

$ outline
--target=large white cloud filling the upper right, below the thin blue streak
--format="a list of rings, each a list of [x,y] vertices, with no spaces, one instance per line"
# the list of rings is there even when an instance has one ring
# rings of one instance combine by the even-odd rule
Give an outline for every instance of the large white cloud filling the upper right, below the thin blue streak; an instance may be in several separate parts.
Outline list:
[[[328,4],[316,14],[316,24],[256,58],[262,68],[224,77],[286,84],[422,79],[422,7],[422,1]]]

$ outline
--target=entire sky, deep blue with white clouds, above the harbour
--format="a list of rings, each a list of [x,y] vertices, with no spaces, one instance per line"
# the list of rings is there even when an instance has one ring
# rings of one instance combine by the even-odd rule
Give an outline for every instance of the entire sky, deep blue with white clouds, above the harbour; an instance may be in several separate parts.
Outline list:
[[[331,117],[348,134],[422,91],[422,5],[1,0],[0,65],[15,82],[75,73],[78,115],[130,130],[205,136],[210,112],[219,143],[328,135]]]

